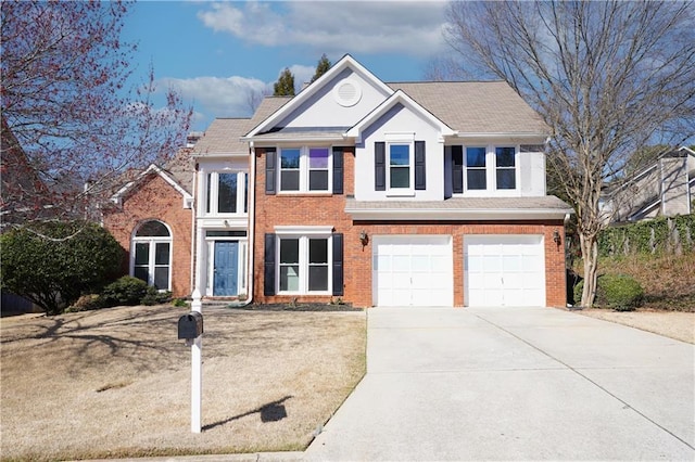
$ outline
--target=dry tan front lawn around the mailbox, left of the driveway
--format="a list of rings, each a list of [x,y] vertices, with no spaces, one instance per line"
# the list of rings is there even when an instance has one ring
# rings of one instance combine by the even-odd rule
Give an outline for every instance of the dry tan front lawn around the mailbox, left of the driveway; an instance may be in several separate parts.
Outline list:
[[[191,434],[185,312],[3,318],[2,460],[302,450],[364,374],[364,312],[210,309]]]

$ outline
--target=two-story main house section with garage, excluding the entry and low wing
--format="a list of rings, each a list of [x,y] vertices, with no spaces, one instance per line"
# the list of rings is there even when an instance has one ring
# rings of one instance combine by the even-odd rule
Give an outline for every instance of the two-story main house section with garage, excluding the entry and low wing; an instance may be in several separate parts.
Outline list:
[[[254,301],[565,306],[548,133],[504,82],[387,85],[344,56],[242,139]]]

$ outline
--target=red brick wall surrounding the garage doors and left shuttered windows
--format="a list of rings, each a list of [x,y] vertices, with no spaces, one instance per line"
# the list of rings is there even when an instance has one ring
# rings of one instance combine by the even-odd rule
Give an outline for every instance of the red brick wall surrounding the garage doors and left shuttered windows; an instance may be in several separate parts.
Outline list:
[[[345,196],[354,193],[354,151],[344,153],[344,194],[342,195],[266,195],[265,153],[257,149],[255,182],[255,248],[254,248],[254,300],[260,303],[288,303],[294,296],[263,295],[264,234],[275,232],[276,224],[333,226],[334,232],[343,233],[344,296],[343,300],[354,306],[368,307],[371,294],[371,243],[363,247],[359,233],[368,235],[412,234],[452,235],[454,258],[454,304],[464,306],[464,239],[466,234],[543,234],[545,236],[546,305],[564,307],[565,253],[564,247],[553,242],[553,231],[558,230],[565,242],[563,220],[556,221],[352,221],[345,215]],[[326,301],[330,296],[300,296],[300,301]]]

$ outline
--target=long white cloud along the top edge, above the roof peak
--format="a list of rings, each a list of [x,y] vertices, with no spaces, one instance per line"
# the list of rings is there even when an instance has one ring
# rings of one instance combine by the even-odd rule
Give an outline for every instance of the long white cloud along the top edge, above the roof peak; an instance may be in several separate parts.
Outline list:
[[[329,55],[442,48],[442,1],[295,1],[213,3],[198,16],[206,27],[253,44],[305,46]]]

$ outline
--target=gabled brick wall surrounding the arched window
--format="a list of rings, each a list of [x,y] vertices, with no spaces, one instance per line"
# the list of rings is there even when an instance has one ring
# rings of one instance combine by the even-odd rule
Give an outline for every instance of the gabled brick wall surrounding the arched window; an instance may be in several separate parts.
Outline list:
[[[160,220],[172,230],[172,293],[190,295],[191,288],[191,210],[184,208],[184,197],[159,175],[150,175],[123,198],[123,207],[104,215],[104,227],[126,251],[123,273],[130,264],[130,236],[135,228],[149,220]]]

